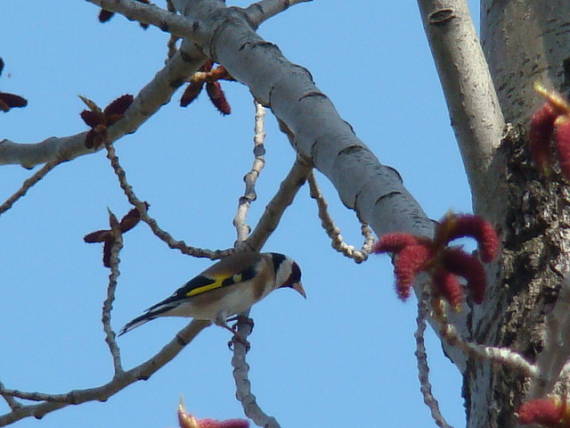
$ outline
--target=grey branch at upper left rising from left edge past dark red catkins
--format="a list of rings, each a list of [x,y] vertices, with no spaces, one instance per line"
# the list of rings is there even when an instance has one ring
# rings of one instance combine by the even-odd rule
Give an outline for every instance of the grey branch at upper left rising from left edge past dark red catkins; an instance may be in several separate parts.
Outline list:
[[[138,3],[141,4],[141,3]],[[133,133],[158,109],[170,101],[172,94],[203,64],[205,57],[191,43],[180,51],[139,92],[124,117],[107,130],[107,141],[114,142],[125,134]],[[48,138],[40,143],[20,144],[0,141],[0,165],[19,164],[26,168],[44,162],[71,160],[94,153],[85,147],[86,132],[62,138]]]

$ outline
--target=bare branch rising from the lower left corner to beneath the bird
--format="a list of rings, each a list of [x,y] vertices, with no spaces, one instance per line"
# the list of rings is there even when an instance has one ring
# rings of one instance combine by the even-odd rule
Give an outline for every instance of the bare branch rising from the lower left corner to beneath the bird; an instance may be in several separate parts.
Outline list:
[[[209,321],[192,321],[178,332],[176,337],[165,345],[157,354],[134,367],[133,369],[115,376],[110,382],[96,388],[80,389],[65,394],[43,394],[39,392],[22,392],[2,389],[4,396],[21,397],[28,400],[44,401],[43,403],[21,406],[10,413],[0,416],[0,426],[5,426],[27,417],[42,418],[47,413],[70,404],[81,404],[87,401],[105,401],[120,390],[139,380],[147,380],[165,364],[171,361],[188,345],[204,328],[210,325]]]

